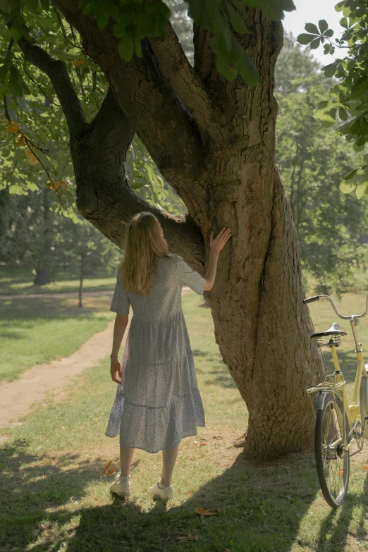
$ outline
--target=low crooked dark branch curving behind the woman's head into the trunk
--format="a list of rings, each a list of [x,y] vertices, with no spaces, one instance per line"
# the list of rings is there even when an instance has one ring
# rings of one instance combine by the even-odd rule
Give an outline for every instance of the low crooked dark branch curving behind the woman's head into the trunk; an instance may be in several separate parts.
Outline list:
[[[124,161],[134,130],[110,88],[99,113],[72,149],[80,213],[112,242],[123,247],[132,216],[149,211],[157,216],[169,250],[204,272],[202,233],[190,216],[160,211],[138,196],[125,178]]]

